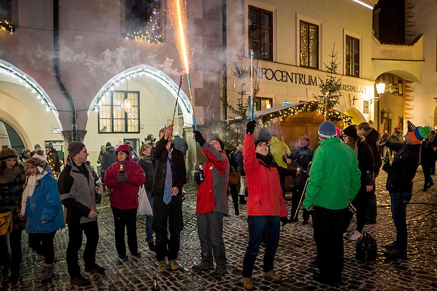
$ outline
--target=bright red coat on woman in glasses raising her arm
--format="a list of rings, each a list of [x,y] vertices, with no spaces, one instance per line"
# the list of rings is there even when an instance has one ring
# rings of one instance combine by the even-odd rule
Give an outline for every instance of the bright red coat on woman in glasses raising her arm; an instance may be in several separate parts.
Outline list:
[[[256,158],[253,135],[246,133],[243,145],[244,171],[249,192],[247,215],[286,217],[278,169],[268,167]]]

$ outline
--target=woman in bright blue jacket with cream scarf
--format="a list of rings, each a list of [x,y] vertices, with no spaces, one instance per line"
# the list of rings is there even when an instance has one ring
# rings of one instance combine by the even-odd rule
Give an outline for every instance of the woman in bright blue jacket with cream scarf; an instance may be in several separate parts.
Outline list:
[[[42,159],[41,159],[42,158]],[[54,277],[53,239],[56,231],[65,226],[64,211],[56,179],[44,170],[44,153],[28,158],[24,163],[27,174],[19,217],[26,218],[26,230],[32,247],[40,250],[45,260],[43,283]]]

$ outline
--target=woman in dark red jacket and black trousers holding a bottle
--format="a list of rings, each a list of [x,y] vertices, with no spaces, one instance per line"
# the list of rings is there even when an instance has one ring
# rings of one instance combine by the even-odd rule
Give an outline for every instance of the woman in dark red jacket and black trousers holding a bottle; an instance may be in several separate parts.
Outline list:
[[[127,259],[124,244],[124,228],[127,231],[131,255],[140,257],[136,241],[136,210],[138,209],[139,186],[146,181],[146,175],[139,164],[131,159],[127,145],[118,146],[118,161],[105,171],[105,184],[111,188],[109,202],[114,214],[114,232],[118,257]]]

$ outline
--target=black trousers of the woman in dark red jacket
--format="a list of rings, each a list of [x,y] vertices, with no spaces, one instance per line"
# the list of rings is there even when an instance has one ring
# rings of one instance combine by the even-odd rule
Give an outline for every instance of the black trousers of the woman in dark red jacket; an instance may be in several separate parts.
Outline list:
[[[126,255],[126,244],[124,243],[124,229],[126,228],[128,237],[128,247],[131,254],[138,252],[138,242],[136,239],[136,208],[118,209],[111,206],[114,214],[114,236],[118,256]]]

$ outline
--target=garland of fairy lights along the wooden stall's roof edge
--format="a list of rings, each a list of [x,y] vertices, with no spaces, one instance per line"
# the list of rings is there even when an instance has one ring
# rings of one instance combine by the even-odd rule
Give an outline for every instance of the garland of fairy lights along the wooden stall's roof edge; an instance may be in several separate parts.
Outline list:
[[[274,122],[277,119],[280,119],[282,121],[283,118],[292,117],[293,115],[297,115],[303,112],[317,112],[323,115],[325,113],[325,107],[316,101],[306,102],[263,115],[259,118],[258,124],[261,128],[263,128],[268,126],[268,124],[272,121]],[[339,111],[328,109],[326,115],[330,120],[341,121],[345,125],[352,124],[351,116],[341,113]]]

